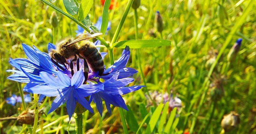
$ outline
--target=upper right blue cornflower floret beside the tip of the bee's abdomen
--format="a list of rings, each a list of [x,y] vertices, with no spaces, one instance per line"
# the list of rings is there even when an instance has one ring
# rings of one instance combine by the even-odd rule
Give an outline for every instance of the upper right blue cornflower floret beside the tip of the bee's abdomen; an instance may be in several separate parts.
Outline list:
[[[104,73],[110,72],[108,75],[100,76],[104,80],[111,78],[117,71],[119,71],[118,79],[129,77],[138,71],[131,68],[126,67],[128,60],[130,58],[130,48],[128,46],[125,47],[121,57],[109,68],[107,68]]]

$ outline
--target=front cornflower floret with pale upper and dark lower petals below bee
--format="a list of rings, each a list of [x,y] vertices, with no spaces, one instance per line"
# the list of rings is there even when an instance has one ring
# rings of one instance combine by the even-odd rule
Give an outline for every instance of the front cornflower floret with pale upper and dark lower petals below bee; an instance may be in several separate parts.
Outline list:
[[[40,72],[40,77],[44,80],[46,85],[29,82],[26,87],[24,87],[24,90],[45,96],[56,96],[48,113],[54,111],[65,102],[67,102],[66,107],[69,119],[74,113],[76,102],[93,113],[93,109],[84,97],[102,91],[104,87],[103,84],[83,84],[85,80],[83,70],[74,73],[72,78],[61,71],[58,71],[57,75],[57,77],[54,77],[47,72]]]

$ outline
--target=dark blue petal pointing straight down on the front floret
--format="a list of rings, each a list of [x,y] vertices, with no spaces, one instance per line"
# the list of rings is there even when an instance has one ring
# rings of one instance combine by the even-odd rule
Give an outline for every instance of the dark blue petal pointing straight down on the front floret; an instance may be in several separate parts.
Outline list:
[[[67,99],[66,107],[67,107],[67,112],[70,120],[76,108],[76,100],[74,98],[74,89],[71,89],[68,94],[69,94],[69,97]]]

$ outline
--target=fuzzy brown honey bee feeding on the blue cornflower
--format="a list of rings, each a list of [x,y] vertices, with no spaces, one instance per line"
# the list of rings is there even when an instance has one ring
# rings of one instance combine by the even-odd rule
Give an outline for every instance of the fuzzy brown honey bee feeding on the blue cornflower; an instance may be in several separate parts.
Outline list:
[[[99,76],[103,75],[104,62],[99,51],[95,45],[88,41],[89,39],[96,38],[102,33],[89,34],[84,33],[73,37],[67,37],[56,43],[56,49],[52,49],[49,53],[51,61],[60,69],[64,70],[59,64],[66,64],[70,66],[71,74],[74,74],[73,62],[77,64],[77,71],[79,70],[79,58],[84,59],[84,76],[85,81],[88,77],[89,67],[93,72],[98,72]],[[78,42],[82,41],[80,44]],[[68,61],[71,61],[70,63]],[[89,66],[89,67],[88,67]]]

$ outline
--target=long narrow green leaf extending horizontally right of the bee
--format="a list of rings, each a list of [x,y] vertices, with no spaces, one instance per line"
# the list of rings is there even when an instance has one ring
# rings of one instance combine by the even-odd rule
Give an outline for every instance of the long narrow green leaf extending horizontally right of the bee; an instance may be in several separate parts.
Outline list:
[[[125,46],[129,46],[132,49],[170,46],[170,45],[171,45],[171,42],[167,40],[125,40],[125,41],[120,41],[113,44],[113,46],[116,48],[125,48]]]

